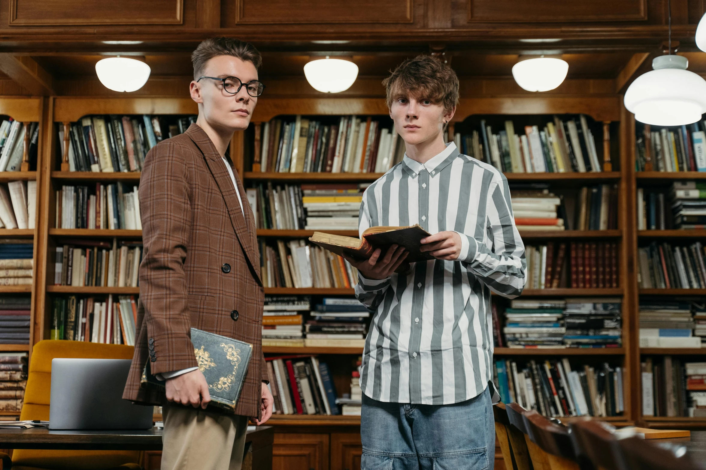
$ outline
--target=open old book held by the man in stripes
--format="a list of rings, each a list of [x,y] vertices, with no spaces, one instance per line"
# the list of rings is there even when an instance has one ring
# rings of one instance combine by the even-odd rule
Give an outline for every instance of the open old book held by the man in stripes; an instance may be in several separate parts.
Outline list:
[[[380,248],[381,256],[393,244],[405,247],[409,254],[405,259],[407,263],[434,259],[429,252],[420,252],[421,239],[429,237],[431,233],[421,228],[418,224],[409,227],[371,227],[363,232],[363,238],[344,237],[330,233],[314,232],[309,241],[328,249],[330,252],[342,256],[347,254],[354,259],[368,259],[373,252]]]

